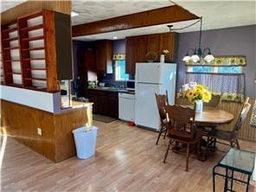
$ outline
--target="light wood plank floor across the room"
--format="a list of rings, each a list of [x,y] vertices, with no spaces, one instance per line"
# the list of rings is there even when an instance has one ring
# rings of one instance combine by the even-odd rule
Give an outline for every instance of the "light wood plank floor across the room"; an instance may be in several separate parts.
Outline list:
[[[87,160],[72,157],[52,163],[8,138],[2,191],[212,191],[212,167],[223,152],[210,153],[207,162],[192,156],[186,172],[185,157],[172,151],[163,163],[168,140],[161,139],[156,145],[157,132],[120,121],[95,121],[94,125],[99,127],[97,152]],[[240,145],[256,151],[255,143],[241,141]],[[217,191],[222,191],[222,179],[217,182]],[[237,184],[235,188],[244,189]]]

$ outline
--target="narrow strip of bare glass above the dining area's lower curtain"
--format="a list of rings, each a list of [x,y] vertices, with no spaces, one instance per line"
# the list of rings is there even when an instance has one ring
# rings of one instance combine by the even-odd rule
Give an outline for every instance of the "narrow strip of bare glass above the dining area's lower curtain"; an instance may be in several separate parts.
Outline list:
[[[211,66],[191,66],[187,67],[190,73],[213,73],[213,74],[241,74],[242,67],[211,67]]]

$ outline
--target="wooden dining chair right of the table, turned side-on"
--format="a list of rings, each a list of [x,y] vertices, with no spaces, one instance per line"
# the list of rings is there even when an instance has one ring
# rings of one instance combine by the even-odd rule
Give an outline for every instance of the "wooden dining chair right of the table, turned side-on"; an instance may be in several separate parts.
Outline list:
[[[214,129],[213,131],[209,132],[209,137],[208,137],[208,144],[209,144],[209,140],[210,138],[216,138],[217,139],[217,143],[219,144],[226,144],[223,142],[220,142],[219,140],[224,140],[227,141],[228,144],[226,145],[230,145],[231,147],[236,147],[237,149],[240,149],[240,144],[238,141],[238,136],[239,136],[239,132],[240,132],[240,128],[243,125],[246,116],[248,114],[248,112],[250,111],[251,108],[251,104],[249,103],[245,103],[240,111],[240,116],[237,118],[237,121],[234,125],[234,129],[233,131],[222,131],[222,130],[218,130],[218,129]],[[207,145],[208,145],[207,144]]]

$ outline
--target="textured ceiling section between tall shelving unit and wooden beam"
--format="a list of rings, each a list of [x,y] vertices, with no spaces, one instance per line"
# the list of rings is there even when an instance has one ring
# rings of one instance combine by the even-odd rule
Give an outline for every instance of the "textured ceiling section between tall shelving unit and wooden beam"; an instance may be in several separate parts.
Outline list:
[[[169,0],[73,0],[72,10],[80,13],[80,16],[72,18],[72,25],[96,22],[171,5],[174,3]]]

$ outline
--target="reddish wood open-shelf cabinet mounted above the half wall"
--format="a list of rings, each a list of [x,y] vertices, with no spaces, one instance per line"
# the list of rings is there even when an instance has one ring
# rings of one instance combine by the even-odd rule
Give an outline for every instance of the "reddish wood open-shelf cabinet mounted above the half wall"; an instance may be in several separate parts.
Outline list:
[[[73,79],[70,16],[40,10],[2,26],[4,83],[58,92]]]

